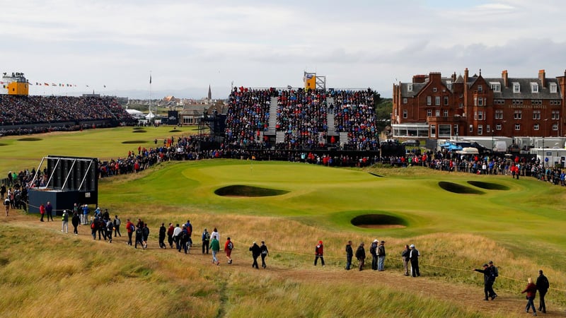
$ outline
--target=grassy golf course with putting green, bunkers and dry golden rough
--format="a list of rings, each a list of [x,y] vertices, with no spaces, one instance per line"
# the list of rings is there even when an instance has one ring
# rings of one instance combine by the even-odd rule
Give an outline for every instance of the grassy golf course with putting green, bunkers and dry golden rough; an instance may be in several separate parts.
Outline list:
[[[190,134],[161,126],[1,137],[0,173],[37,169],[46,155],[123,158]],[[521,291],[539,269],[550,281],[545,316],[566,317],[565,201],[564,187],[531,177],[427,167],[158,163],[98,183],[100,208],[149,225],[147,249],[125,244],[125,228],[109,244],[88,226],[62,232],[60,216],[2,216],[0,317],[524,317]],[[160,249],[161,223],[187,220],[190,254]],[[219,265],[202,254],[204,228],[218,229],[221,249],[231,237],[232,264],[222,250]],[[386,242],[385,271],[371,270],[376,239]],[[319,240],[325,266],[313,266]],[[345,270],[348,240],[354,251],[365,243],[363,271],[355,258]],[[249,247],[261,241],[267,268],[253,269]],[[417,278],[403,275],[400,254],[411,244],[421,254]],[[498,297],[485,301],[473,269],[490,260]]]

